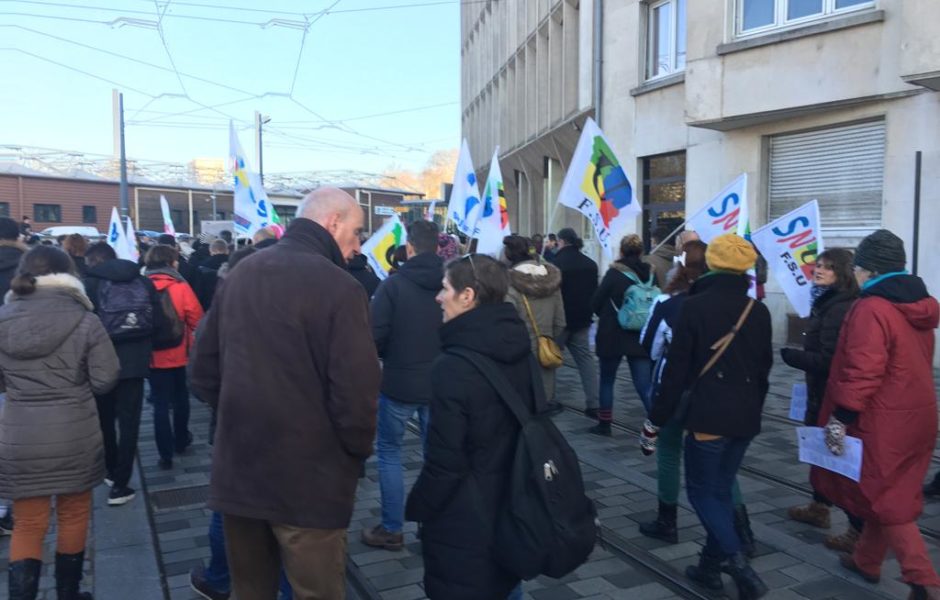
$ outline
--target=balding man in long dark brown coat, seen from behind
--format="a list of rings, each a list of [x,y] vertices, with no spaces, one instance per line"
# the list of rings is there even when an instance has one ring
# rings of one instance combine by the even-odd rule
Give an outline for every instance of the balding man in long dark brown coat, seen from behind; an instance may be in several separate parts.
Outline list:
[[[372,452],[380,372],[346,260],[363,212],[335,188],[304,198],[275,246],[216,292],[192,387],[218,410],[209,507],[223,514],[239,600],[343,598],[346,528]]]

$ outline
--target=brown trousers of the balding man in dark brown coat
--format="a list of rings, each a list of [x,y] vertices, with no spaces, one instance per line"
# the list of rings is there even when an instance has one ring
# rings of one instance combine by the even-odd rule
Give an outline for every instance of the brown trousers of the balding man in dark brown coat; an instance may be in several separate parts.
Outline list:
[[[283,563],[295,600],[344,600],[346,530],[304,529],[223,515],[238,600],[275,600]]]

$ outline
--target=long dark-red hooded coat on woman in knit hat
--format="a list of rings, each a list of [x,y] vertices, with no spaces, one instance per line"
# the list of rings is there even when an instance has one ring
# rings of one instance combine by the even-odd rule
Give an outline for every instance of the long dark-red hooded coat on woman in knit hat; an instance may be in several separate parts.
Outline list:
[[[923,509],[921,486],[937,438],[933,381],[937,300],[923,281],[895,275],[862,292],[839,335],[819,423],[857,413],[848,435],[862,439],[858,483],[814,467],[813,486],[866,521],[900,525]]]

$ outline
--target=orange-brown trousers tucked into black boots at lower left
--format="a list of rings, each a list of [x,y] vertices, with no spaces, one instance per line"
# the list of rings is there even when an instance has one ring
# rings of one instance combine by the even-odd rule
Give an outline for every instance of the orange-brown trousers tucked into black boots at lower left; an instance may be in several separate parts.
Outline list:
[[[78,554],[85,549],[91,516],[91,490],[55,497],[56,552]],[[42,560],[42,542],[49,530],[51,496],[23,498],[13,502],[16,526],[10,540],[10,562],[35,558]]]

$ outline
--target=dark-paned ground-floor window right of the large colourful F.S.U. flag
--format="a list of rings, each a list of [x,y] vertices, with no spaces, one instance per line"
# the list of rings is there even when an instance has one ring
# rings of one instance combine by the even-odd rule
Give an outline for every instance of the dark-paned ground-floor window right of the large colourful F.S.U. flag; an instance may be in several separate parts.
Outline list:
[[[660,227],[670,231],[685,221],[685,152],[643,159],[643,240]]]

